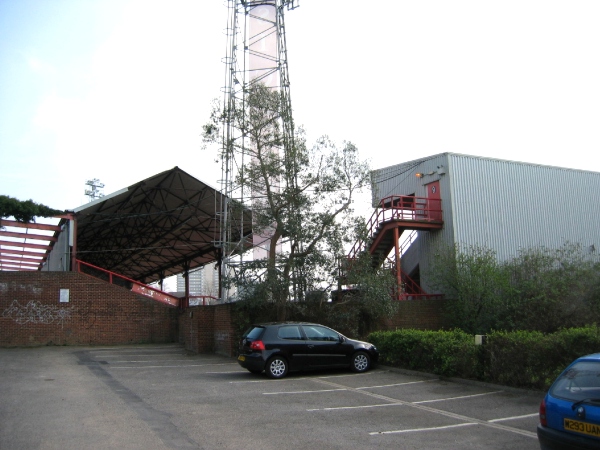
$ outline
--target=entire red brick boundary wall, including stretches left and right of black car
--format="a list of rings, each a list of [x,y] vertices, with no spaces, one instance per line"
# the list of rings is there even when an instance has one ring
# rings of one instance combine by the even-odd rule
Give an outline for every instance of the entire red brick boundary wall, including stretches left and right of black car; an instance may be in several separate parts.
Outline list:
[[[69,302],[59,301],[69,289]],[[438,330],[443,300],[409,300],[379,329]],[[232,305],[179,311],[87,275],[0,272],[0,346],[180,342],[195,353],[234,356],[239,327]]]

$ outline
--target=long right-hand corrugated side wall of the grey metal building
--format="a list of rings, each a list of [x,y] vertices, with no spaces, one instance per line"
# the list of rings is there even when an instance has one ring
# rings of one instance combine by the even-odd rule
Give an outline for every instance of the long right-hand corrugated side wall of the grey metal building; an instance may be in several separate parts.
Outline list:
[[[449,155],[454,242],[494,249],[600,244],[600,173]],[[445,206],[446,214],[448,205]]]

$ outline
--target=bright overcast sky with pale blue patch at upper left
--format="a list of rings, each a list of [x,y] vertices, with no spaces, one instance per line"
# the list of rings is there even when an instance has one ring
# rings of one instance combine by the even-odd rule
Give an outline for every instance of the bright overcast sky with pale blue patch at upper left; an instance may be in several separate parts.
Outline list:
[[[179,166],[218,187],[201,126],[224,0],[0,0],[0,195],[57,209]],[[374,169],[442,152],[600,172],[600,1],[300,0],[292,106]]]

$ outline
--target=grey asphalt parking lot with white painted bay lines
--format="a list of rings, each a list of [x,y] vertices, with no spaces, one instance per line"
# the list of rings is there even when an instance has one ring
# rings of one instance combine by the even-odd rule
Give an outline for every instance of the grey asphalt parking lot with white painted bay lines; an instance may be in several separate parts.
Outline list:
[[[386,367],[270,380],[179,345],[0,349],[0,449],[538,449],[541,398]]]

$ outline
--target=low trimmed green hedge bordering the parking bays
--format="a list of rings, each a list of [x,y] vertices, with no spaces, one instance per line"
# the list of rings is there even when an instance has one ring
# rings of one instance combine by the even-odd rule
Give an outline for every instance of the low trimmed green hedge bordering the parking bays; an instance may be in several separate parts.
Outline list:
[[[377,331],[368,340],[381,354],[380,363],[442,377],[475,379],[505,386],[547,389],[579,356],[600,352],[597,326],[537,331],[496,331],[485,345],[460,330]]]

